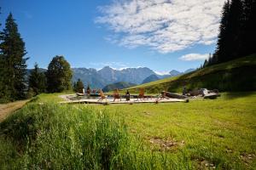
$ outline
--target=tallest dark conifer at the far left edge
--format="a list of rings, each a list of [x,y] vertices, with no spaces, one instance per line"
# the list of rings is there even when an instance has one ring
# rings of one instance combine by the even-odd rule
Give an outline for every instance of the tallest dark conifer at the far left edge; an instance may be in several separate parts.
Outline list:
[[[26,55],[25,43],[20,37],[18,26],[9,14],[1,34],[2,83],[4,97],[12,100],[26,97]]]

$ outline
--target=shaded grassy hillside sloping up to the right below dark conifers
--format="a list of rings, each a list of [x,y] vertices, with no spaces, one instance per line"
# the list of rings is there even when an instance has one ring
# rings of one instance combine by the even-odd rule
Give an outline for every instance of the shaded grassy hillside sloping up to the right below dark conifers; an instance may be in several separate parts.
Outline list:
[[[181,92],[183,86],[187,89],[217,88],[220,91],[256,90],[256,54],[231,60],[219,65],[192,71],[182,76],[169,77],[155,82],[141,84],[129,88],[137,91],[145,88],[147,93],[160,93],[162,90]]]

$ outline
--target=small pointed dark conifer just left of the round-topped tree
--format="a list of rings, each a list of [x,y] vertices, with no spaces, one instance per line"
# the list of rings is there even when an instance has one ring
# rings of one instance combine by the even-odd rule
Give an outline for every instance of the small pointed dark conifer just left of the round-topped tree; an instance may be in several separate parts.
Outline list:
[[[41,94],[45,92],[46,77],[44,72],[39,71],[37,63],[35,64],[34,69],[31,71],[28,82],[29,88],[32,89],[35,94]]]

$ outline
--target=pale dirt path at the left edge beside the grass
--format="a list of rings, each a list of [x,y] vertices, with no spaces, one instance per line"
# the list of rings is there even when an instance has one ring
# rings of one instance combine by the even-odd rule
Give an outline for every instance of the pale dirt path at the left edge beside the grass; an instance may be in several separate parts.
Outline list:
[[[28,101],[29,101],[29,99],[15,101],[15,102],[12,102],[9,104],[0,104],[0,122],[2,122],[13,111],[20,109]]]

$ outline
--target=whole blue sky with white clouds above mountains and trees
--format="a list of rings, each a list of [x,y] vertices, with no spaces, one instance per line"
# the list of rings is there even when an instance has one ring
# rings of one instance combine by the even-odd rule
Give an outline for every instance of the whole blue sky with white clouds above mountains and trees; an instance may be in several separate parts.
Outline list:
[[[224,2],[185,1],[186,8],[177,0],[1,0],[0,19],[4,26],[14,15],[29,68],[64,55],[72,67],[184,71],[214,51]]]

